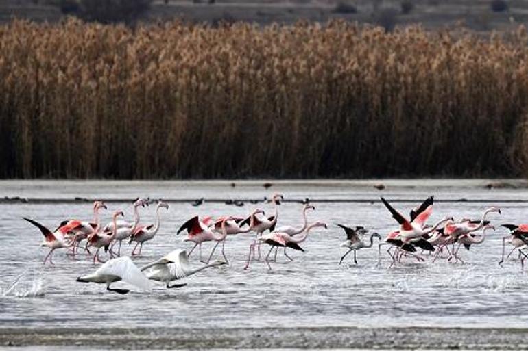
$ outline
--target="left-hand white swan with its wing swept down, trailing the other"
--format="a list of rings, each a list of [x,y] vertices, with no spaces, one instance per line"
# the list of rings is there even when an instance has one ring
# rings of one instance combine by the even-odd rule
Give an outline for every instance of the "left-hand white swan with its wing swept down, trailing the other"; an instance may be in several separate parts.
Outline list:
[[[128,256],[109,259],[94,273],[77,277],[77,281],[80,283],[106,284],[108,291],[114,291],[117,294],[127,294],[130,291],[127,289],[112,289],[110,285],[117,281],[124,281],[141,290],[151,289],[147,276],[134,265],[134,262]]]

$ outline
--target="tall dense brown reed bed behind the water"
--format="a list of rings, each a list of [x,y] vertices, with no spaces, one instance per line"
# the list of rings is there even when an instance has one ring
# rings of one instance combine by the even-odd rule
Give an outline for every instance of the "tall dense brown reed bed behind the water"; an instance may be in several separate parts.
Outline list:
[[[523,27],[0,27],[0,177],[528,174]]]

